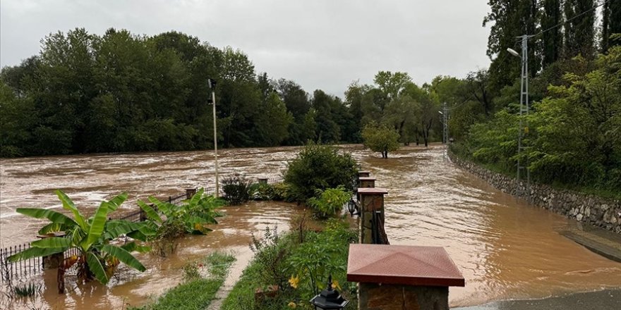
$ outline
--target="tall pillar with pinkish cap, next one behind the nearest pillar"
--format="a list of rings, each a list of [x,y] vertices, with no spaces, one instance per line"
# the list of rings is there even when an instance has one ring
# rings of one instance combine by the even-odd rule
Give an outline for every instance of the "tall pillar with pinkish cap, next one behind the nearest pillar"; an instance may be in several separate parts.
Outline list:
[[[373,243],[373,213],[378,213],[384,226],[384,195],[388,191],[383,188],[358,188],[360,199],[360,237],[359,242]]]

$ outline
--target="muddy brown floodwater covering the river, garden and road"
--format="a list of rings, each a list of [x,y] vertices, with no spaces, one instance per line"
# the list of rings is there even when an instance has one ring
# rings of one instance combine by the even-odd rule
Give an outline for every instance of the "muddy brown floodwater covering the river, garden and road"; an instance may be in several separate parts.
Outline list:
[[[405,147],[380,159],[360,146],[344,146],[385,187],[386,230],[391,244],[434,245],[447,249],[466,278],[466,287],[451,288],[451,306],[500,299],[529,299],[569,292],[621,287],[621,263],[593,254],[558,231],[572,221],[529,206],[460,170],[445,149]],[[219,154],[222,175],[246,173],[250,178],[279,175],[299,148],[227,149]],[[95,156],[50,156],[0,161],[1,247],[28,242],[41,222],[15,212],[19,206],[61,209],[53,191],[65,190],[78,206],[128,191],[126,209],[135,199],[167,197],[186,187],[212,186],[212,152],[164,152]],[[44,275],[40,302],[53,309],[119,309],[143,304],[181,280],[181,266],[214,250],[233,252],[231,278],[251,259],[252,233],[267,225],[288,228],[301,209],[291,204],[253,202],[227,207],[215,231],[182,240],[167,259],[140,254],[145,273],[121,271],[109,285],[71,285],[55,293],[55,273]],[[52,274],[54,273],[54,274]],[[0,297],[1,298],[1,297]]]

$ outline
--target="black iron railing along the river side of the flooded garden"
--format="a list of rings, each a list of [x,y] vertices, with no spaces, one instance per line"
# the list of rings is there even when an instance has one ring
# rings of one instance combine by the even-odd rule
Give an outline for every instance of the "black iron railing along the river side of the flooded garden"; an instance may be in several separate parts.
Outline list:
[[[268,178],[269,184],[276,184],[282,182],[282,177]],[[205,187],[205,194],[214,194],[215,187]],[[169,196],[168,202],[171,204],[179,205],[186,199],[187,193],[179,194],[177,196]],[[142,212],[140,209],[132,211],[119,211],[112,214],[109,217],[110,220],[126,220],[138,222],[143,220]],[[32,257],[30,259],[24,259],[22,261],[10,262],[6,258],[13,254],[22,252],[25,249],[30,248],[30,243],[19,244],[13,247],[6,247],[0,249],[0,282],[4,284],[10,284],[11,281],[16,279],[30,278],[43,271],[45,268],[45,259],[42,257]],[[64,258],[78,255],[78,249],[68,249],[64,252]]]

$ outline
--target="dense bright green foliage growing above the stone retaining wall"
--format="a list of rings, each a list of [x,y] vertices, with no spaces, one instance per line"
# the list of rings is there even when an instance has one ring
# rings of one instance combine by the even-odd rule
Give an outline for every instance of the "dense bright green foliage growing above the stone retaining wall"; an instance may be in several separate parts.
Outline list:
[[[562,79],[533,103],[529,127],[517,128],[515,107],[508,106],[472,125],[466,140],[452,149],[512,174],[521,130],[529,148],[519,156],[529,162],[534,180],[621,198],[621,46],[593,61],[574,58],[564,68]]]

